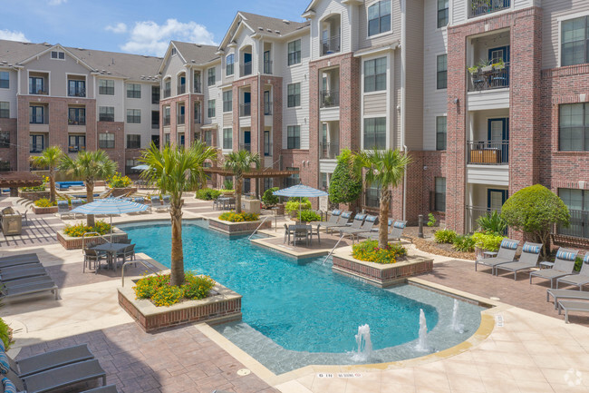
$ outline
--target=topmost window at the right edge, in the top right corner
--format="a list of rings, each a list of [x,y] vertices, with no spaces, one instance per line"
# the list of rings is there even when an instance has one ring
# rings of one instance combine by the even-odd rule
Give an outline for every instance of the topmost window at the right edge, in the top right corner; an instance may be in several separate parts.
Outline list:
[[[561,32],[561,65],[589,63],[589,17],[563,21]]]

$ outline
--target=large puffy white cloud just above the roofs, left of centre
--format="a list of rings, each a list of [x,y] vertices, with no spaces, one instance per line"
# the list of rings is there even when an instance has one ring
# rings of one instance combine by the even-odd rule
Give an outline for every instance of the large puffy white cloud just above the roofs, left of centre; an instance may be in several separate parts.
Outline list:
[[[130,31],[130,38],[121,46],[125,52],[133,54],[155,54],[163,56],[170,40],[186,41],[195,44],[215,44],[213,34],[207,27],[196,22],[182,23],[168,19],[158,25],[152,21],[137,22]]]

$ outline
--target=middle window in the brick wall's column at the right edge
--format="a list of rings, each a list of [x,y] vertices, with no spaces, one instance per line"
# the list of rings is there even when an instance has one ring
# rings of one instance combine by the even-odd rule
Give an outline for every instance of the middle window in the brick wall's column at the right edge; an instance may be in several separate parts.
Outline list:
[[[560,105],[558,146],[561,151],[589,151],[589,105]]]

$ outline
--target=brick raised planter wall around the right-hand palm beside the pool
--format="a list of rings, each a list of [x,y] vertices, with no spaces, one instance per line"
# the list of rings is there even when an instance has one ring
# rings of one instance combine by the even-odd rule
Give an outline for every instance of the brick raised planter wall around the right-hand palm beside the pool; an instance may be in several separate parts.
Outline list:
[[[404,280],[407,277],[433,270],[433,260],[420,256],[408,256],[388,265],[356,260],[343,253],[333,255],[333,270],[360,277],[377,287],[385,288]]]

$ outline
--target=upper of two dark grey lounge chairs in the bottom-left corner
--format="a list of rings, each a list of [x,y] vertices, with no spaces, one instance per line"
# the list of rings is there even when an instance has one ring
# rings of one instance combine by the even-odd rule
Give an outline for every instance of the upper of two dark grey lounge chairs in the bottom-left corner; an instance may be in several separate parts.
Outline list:
[[[8,358],[10,368],[12,368],[19,378],[90,359],[94,359],[94,355],[88,349],[87,344],[55,349],[20,360]]]

